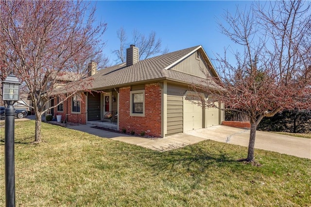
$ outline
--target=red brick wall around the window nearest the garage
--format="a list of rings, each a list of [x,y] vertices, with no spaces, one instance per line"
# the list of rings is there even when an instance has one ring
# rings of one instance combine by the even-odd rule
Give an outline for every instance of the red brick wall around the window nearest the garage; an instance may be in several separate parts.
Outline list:
[[[119,89],[119,129],[127,132],[134,131],[140,134],[161,136],[161,87],[154,84],[145,85],[145,116],[130,116],[131,87]]]

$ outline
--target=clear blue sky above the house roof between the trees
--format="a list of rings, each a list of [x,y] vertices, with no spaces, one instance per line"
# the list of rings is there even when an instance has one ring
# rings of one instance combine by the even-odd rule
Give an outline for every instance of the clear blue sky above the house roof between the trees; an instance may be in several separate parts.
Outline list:
[[[116,56],[112,51],[120,47],[117,31],[123,27],[131,44],[131,33],[137,29],[144,35],[155,31],[162,40],[162,48],[169,52],[202,45],[213,59],[215,53],[224,54],[224,48],[236,45],[222,35],[217,19],[228,10],[235,14],[236,6],[244,9],[251,1],[92,1],[96,3],[97,20],[107,23],[103,39],[104,53],[114,65]]]

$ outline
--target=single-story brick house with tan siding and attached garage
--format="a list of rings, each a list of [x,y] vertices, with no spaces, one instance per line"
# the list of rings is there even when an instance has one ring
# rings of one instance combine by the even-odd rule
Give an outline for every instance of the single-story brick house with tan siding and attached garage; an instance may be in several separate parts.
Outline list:
[[[134,45],[126,52],[126,63],[99,71],[91,62],[86,78],[91,78],[91,92],[72,96],[57,107],[56,114],[69,122],[156,137],[218,125],[224,120],[222,110],[195,104],[212,101],[207,94],[197,96],[191,91],[191,84],[202,84],[206,73],[218,77],[202,46],[141,61]],[[117,119],[105,119],[108,112]]]

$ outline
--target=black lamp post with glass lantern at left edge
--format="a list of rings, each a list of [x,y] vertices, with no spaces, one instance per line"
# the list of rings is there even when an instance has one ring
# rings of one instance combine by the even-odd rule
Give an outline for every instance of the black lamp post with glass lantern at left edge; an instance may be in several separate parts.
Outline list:
[[[2,99],[6,102],[4,134],[4,168],[5,168],[5,205],[15,207],[15,169],[14,169],[14,125],[15,108],[13,104],[19,99],[19,81],[10,74],[2,81]]]

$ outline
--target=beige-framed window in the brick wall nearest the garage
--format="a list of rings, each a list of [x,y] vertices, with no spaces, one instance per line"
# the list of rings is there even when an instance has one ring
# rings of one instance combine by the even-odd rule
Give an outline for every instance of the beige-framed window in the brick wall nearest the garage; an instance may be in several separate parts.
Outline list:
[[[131,113],[130,116],[145,116],[145,90],[131,91]]]

